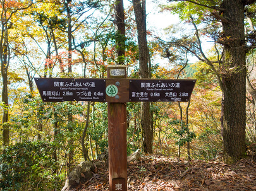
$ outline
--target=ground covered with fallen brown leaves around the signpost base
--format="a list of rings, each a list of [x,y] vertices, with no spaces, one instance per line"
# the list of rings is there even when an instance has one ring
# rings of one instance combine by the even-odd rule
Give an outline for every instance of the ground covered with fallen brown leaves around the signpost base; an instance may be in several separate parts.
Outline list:
[[[76,190],[108,190],[107,165]],[[143,156],[128,163],[128,190],[256,190],[256,161],[235,165],[220,161],[186,161],[180,158]]]

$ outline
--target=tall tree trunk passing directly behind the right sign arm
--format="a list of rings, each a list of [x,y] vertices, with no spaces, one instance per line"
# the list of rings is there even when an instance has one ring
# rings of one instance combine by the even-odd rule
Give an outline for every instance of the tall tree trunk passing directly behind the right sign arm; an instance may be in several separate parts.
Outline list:
[[[145,0],[133,0],[133,8],[138,31],[140,78],[149,78]],[[153,153],[153,127],[151,120],[150,103],[142,102],[141,124],[144,153]]]

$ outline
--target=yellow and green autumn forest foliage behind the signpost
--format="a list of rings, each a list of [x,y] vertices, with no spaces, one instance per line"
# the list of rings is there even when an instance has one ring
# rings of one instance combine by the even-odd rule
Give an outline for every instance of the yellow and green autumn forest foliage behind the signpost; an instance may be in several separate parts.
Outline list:
[[[1,1],[3,190],[60,190],[76,164],[106,152],[106,103],[44,103],[33,78],[106,78],[106,67],[119,63],[116,42],[125,47],[121,59],[128,78],[141,78],[136,2],[145,11],[145,1],[126,2],[124,37],[115,28],[116,1]],[[246,93],[245,146],[255,146],[256,7],[255,1],[239,2],[243,2],[244,40],[223,30],[228,23],[222,15],[226,1],[155,1],[165,14],[180,16],[180,24],[161,32],[147,29],[149,78],[193,78],[197,84],[188,103],[150,103],[151,150],[145,147],[149,137],[141,126],[143,106],[127,103],[128,154],[140,149],[171,157],[222,160],[227,152],[221,128],[225,111],[221,103],[223,92],[227,93],[223,81],[245,69],[247,92],[241,93]],[[161,20],[168,23],[166,18]],[[227,47],[236,40],[243,43],[239,48],[246,54],[241,70],[236,64],[223,64],[231,57]],[[242,103],[231,107],[235,106],[243,110]]]

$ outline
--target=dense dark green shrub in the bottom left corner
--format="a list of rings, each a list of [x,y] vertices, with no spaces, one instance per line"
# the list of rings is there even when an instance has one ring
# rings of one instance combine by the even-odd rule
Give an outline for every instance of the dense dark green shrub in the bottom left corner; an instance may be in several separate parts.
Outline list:
[[[7,190],[45,190],[53,189],[46,175],[51,174],[55,165],[52,153],[55,146],[51,142],[23,142],[4,148],[0,154],[0,187]],[[53,180],[52,180],[53,181]]]

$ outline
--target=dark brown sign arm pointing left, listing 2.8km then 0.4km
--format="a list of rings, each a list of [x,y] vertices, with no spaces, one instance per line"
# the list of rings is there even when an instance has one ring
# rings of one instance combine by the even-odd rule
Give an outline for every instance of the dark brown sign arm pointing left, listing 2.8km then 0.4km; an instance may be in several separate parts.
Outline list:
[[[105,79],[35,78],[35,83],[46,102],[106,101]]]

